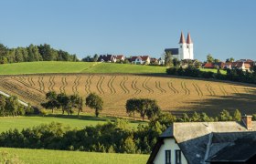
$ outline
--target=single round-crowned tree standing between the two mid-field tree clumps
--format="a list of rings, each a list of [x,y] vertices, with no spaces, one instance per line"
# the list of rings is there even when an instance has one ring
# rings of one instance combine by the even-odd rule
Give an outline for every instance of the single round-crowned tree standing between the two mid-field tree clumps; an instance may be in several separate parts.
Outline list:
[[[100,111],[103,108],[103,100],[95,93],[91,93],[88,97],[86,97],[85,105],[89,108],[94,108],[96,117],[99,117]]]

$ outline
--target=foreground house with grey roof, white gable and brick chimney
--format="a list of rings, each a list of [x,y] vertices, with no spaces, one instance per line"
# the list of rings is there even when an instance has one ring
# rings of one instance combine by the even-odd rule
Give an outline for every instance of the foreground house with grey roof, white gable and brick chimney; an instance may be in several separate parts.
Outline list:
[[[256,122],[173,123],[158,138],[148,164],[256,163]]]

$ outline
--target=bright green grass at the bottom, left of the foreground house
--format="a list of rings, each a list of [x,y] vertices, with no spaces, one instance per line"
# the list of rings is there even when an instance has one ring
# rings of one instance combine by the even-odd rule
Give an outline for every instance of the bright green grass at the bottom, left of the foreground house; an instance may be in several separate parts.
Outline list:
[[[149,155],[140,154],[114,154],[96,153],[80,151],[63,151],[48,149],[5,149],[0,148],[1,152],[16,155],[16,158],[26,164],[143,164],[146,163]]]

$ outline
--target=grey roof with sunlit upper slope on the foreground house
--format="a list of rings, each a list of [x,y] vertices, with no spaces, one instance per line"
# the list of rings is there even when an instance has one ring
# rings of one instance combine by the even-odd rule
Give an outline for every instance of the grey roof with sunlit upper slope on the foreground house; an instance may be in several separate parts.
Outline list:
[[[256,122],[252,121],[252,129],[256,129]],[[187,161],[203,163],[209,155],[217,153],[236,139],[251,132],[240,122],[187,122],[173,123],[158,138],[163,142],[165,138],[175,138]],[[253,132],[256,135],[256,132]],[[159,146],[159,144],[158,144]],[[160,145],[161,147],[161,145]],[[156,156],[160,148],[152,150],[151,156]],[[256,149],[256,147],[255,147]],[[156,151],[157,150],[157,151]],[[208,153],[206,153],[208,152]],[[153,163],[155,157],[150,157],[148,163]]]

